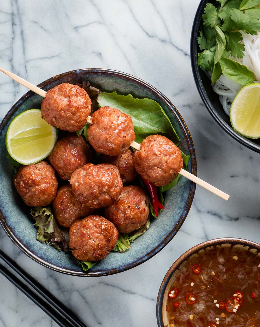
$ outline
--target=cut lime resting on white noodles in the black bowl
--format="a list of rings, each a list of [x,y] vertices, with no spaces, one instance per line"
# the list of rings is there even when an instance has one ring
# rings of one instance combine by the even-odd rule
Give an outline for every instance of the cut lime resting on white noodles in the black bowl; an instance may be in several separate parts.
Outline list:
[[[244,86],[235,96],[230,108],[232,127],[239,134],[260,138],[260,84]]]

